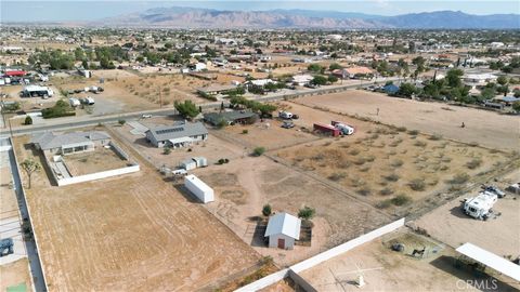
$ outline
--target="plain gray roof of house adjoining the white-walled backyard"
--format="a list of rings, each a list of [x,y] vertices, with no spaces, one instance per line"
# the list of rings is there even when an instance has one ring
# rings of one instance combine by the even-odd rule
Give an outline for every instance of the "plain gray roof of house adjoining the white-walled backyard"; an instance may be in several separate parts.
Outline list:
[[[107,140],[110,136],[102,131],[53,133],[46,132],[32,135],[31,143],[38,144],[42,150],[60,148],[68,145],[80,145],[93,141]]]

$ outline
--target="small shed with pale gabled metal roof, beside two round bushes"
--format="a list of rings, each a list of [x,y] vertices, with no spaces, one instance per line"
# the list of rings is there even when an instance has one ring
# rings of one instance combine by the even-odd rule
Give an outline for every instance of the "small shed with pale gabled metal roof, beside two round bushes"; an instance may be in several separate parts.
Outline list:
[[[301,220],[287,213],[278,213],[269,218],[265,237],[269,247],[292,250],[295,240],[300,239]]]

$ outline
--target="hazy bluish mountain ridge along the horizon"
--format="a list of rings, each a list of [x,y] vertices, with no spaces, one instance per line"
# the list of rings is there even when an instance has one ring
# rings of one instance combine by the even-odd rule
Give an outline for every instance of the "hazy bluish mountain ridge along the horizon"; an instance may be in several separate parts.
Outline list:
[[[220,11],[197,8],[155,8],[91,22],[94,26],[171,28],[313,28],[313,29],[507,29],[520,28],[519,14],[472,15],[437,11],[381,16],[311,10]]]

